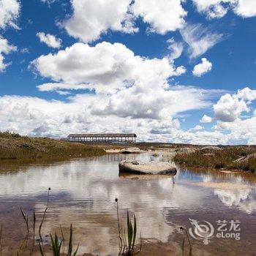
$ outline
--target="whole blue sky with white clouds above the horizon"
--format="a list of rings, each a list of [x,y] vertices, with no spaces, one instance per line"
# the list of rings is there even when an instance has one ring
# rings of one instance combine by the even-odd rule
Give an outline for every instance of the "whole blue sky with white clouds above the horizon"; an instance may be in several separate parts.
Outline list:
[[[256,144],[255,0],[0,0],[0,131]]]

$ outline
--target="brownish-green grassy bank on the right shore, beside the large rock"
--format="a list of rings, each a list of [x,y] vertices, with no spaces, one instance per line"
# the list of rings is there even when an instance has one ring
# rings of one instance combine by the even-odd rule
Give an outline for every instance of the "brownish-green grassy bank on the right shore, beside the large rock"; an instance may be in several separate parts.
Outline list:
[[[227,146],[222,150],[198,149],[192,154],[177,154],[174,161],[187,167],[207,167],[211,169],[245,170],[256,172],[256,159],[236,162],[236,159],[256,152],[252,146]]]

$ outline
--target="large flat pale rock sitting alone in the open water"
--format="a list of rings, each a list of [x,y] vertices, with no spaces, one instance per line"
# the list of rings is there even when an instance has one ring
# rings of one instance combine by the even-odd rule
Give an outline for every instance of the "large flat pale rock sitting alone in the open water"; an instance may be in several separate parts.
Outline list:
[[[119,162],[119,173],[133,174],[176,174],[176,166],[170,162],[142,162],[142,161],[121,161]]]

